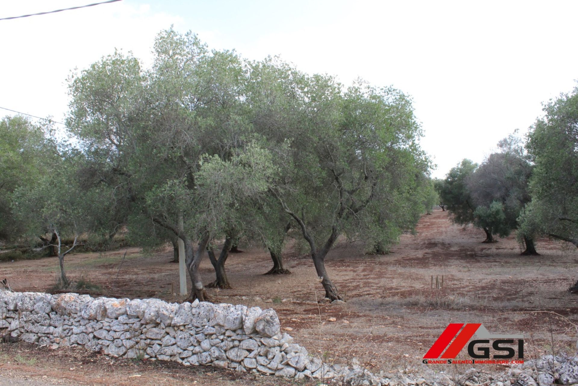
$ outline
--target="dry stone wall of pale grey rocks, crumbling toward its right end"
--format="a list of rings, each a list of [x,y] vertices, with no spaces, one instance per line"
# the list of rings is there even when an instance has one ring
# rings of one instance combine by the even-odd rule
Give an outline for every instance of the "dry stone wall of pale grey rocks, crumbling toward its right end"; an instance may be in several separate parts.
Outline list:
[[[0,290],[0,334],[123,358],[381,384],[364,369],[329,366],[309,356],[289,334],[280,333],[272,308]]]

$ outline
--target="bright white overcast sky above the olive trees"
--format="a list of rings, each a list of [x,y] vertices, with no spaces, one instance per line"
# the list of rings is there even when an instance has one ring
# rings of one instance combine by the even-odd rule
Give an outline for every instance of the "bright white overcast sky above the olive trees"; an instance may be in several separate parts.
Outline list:
[[[0,1],[0,17],[97,0]],[[62,122],[66,77],[114,48],[150,63],[174,24],[213,49],[280,54],[345,84],[360,76],[412,95],[424,150],[443,177],[483,161],[578,79],[578,1],[139,1],[0,20],[0,106]],[[12,115],[0,109],[0,116]]]

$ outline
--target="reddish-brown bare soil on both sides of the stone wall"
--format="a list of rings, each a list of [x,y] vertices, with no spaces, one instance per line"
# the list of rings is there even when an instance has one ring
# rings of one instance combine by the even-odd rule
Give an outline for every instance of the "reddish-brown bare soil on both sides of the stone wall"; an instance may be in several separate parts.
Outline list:
[[[520,246],[513,236],[482,244],[483,231],[453,225],[447,212],[439,209],[432,215],[424,215],[416,231],[416,236],[403,235],[388,255],[364,255],[357,244],[347,242],[329,252],[327,269],[347,299],[345,304],[318,303],[323,288],[312,260],[306,253],[298,253],[295,242],[284,252],[286,268],[292,274],[262,275],[272,265],[268,253],[242,245],[240,249],[244,252],[232,254],[227,261],[233,289],[210,289],[209,295],[215,302],[275,308],[281,327],[311,354],[336,362],[347,362],[355,356],[375,372],[421,366],[425,351],[449,322],[483,323],[495,333],[523,333],[527,358],[575,350],[578,296],[566,292],[578,278],[575,247],[539,240],[536,247],[542,255],[520,256]],[[169,263],[172,249],[143,253],[139,248],[128,248],[121,264],[125,251],[68,255],[65,264],[69,277],[74,280],[82,276],[101,286],[94,296],[181,300],[173,294],[178,289],[178,267]],[[8,278],[16,291],[47,291],[57,273],[55,258],[0,263],[0,278]],[[203,282],[214,280],[208,259],[203,262],[201,273]],[[440,286],[442,276],[443,288],[432,288],[432,278],[435,287],[436,278]],[[203,384],[217,382],[213,377],[234,377],[216,370],[171,367],[171,363],[121,365],[127,361],[98,356],[98,363],[112,361],[115,368],[114,372],[103,373],[102,366],[97,366],[98,374],[107,378],[118,372],[123,382],[128,383],[118,383],[120,380],[113,383],[113,378],[110,383],[93,383],[94,374],[87,373],[83,378],[81,374],[86,369],[79,372],[77,366],[66,362],[65,355],[76,350],[56,350],[57,355],[46,348],[15,348],[8,344],[0,347],[0,355],[4,355],[0,356],[0,373],[9,370],[18,376],[35,376],[46,371],[40,376],[62,384],[140,385],[147,384],[149,372],[151,381],[159,382],[159,377],[154,376],[158,371],[154,366],[161,366],[167,377],[187,378],[186,374],[191,373],[195,377],[208,377],[202,378]],[[30,358],[38,356],[37,365],[15,362],[18,350],[28,350],[26,355]],[[74,355],[86,358],[90,354]],[[64,359],[59,359],[61,356]],[[38,367],[46,357],[52,361],[49,368]],[[58,367],[61,361],[64,367]],[[134,375],[129,365],[140,366],[140,376],[135,377],[138,379],[129,378]],[[65,371],[72,367],[76,370]],[[460,370],[455,366],[451,369]],[[191,379],[184,382],[191,384]],[[232,381],[260,384],[260,380],[251,376]],[[220,382],[215,384],[225,384]],[[171,384],[179,383],[172,380]]]

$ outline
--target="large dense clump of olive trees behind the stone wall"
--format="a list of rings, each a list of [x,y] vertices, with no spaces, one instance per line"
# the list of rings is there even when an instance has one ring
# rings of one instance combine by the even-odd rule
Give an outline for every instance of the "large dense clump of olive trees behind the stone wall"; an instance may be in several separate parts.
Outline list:
[[[386,253],[438,201],[402,91],[344,87],[276,57],[209,50],[172,29],[153,53],[150,68],[114,52],[71,76],[69,142],[50,124],[0,122],[0,238],[50,249],[64,285],[65,255],[81,237],[106,244],[122,230],[144,247],[176,250],[183,240],[190,299],[207,300],[205,252],[209,285],[228,288],[225,262],[239,241],[269,251],[269,274],[286,274],[283,246],[293,237],[325,296],[342,299],[325,269],[338,238]],[[490,234],[501,229],[492,223]],[[64,247],[63,237],[74,241]]]

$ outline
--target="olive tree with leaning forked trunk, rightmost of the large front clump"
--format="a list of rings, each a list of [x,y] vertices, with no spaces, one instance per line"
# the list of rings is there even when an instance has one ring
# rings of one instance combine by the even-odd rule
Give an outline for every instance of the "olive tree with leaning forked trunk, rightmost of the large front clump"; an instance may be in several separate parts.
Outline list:
[[[417,145],[411,101],[401,91],[359,83],[342,92],[334,79],[319,75],[308,82],[307,117],[272,194],[309,245],[325,296],[339,300],[325,268],[327,253],[341,234],[375,225],[366,219],[378,203],[415,183],[407,171],[427,169],[428,162]]]

